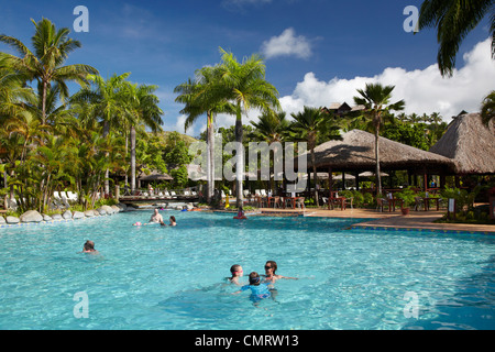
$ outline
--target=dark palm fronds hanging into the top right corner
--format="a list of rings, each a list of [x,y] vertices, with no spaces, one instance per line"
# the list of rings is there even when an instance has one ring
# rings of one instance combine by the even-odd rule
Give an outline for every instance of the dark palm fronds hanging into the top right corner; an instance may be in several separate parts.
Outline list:
[[[495,58],[495,1],[426,0],[419,12],[419,29],[437,26],[440,44],[437,61],[442,76],[451,76],[459,46],[486,15],[491,15],[492,58]]]

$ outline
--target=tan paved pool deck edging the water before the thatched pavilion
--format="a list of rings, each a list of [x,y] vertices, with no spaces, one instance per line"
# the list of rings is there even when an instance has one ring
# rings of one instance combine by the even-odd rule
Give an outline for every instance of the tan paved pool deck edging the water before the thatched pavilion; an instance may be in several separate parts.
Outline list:
[[[436,223],[437,219],[440,219],[444,211],[414,211],[411,210],[408,216],[403,216],[400,210],[396,211],[377,211],[374,209],[273,209],[262,208],[260,209],[262,215],[304,215],[305,217],[329,217],[329,218],[355,218],[355,219],[373,219],[365,222],[358,222],[353,224],[354,228],[366,229],[383,229],[383,230],[397,230],[397,229],[421,229],[432,230],[441,232],[471,232],[482,234],[495,235],[495,226],[493,224],[470,224],[470,223]]]

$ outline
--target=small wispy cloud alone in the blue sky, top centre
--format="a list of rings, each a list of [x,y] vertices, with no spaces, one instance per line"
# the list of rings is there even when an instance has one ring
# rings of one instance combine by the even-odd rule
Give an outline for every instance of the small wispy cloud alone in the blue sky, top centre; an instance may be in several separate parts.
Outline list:
[[[302,35],[296,36],[296,32],[292,28],[282,32],[279,36],[272,36],[268,41],[263,42],[261,51],[266,58],[296,56],[306,59],[312,54],[309,41]]]

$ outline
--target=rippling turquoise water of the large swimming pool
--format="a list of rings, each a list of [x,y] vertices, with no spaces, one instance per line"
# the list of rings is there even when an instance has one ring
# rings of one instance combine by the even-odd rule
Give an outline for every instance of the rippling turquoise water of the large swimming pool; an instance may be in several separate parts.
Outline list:
[[[0,229],[0,329],[495,328],[494,237],[162,213],[178,226],[132,227],[151,216],[138,211]],[[100,255],[77,253],[88,239]],[[230,266],[267,260],[299,279],[257,307],[232,295]]]

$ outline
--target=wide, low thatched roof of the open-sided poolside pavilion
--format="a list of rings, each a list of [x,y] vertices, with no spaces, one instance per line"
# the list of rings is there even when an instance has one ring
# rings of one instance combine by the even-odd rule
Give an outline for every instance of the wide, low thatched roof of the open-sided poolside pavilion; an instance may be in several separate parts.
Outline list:
[[[429,173],[453,169],[454,162],[448,157],[421,151],[416,147],[380,138],[380,160],[382,169],[424,169]],[[310,151],[308,169],[312,167]],[[375,136],[361,130],[342,134],[342,141],[329,141],[315,148],[316,166],[320,170],[374,170]]]

